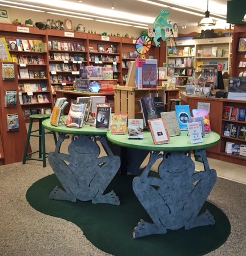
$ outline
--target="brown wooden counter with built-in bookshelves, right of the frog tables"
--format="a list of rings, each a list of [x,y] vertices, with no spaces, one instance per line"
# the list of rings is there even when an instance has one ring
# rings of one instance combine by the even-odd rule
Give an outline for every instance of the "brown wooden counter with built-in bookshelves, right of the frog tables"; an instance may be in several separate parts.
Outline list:
[[[239,137],[224,136],[225,134],[225,124],[235,124],[236,126],[243,127],[246,122],[225,119],[224,111],[225,106],[230,106],[233,108],[245,108],[246,109],[246,101],[243,100],[227,100],[223,98],[214,98],[214,97],[201,97],[201,96],[188,96],[185,93],[181,93],[181,104],[188,104],[189,108],[195,109],[197,108],[197,103],[209,103],[210,104],[210,112],[209,112],[209,120],[211,124],[212,131],[218,133],[221,137],[219,143],[211,148],[207,149],[207,156],[216,158],[219,160],[223,160],[230,163],[241,164],[242,166],[246,166],[246,158],[245,156],[239,156],[232,153],[225,152],[226,146],[228,142],[233,144],[246,144],[246,140],[239,139]]]

